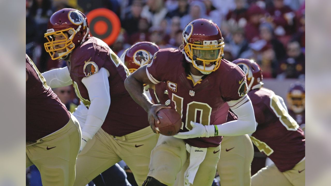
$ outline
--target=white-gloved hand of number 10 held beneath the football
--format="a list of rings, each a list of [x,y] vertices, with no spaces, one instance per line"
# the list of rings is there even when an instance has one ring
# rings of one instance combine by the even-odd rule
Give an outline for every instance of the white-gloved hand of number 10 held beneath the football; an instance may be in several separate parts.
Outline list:
[[[178,132],[173,137],[180,139],[188,138],[200,138],[200,137],[212,137],[215,136],[215,127],[214,125],[202,125],[191,121],[192,130],[188,132]]]

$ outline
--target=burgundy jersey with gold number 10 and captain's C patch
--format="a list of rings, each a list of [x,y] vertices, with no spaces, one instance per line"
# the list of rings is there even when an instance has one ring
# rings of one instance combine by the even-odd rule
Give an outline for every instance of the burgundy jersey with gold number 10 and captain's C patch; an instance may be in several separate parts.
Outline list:
[[[147,65],[147,75],[154,83],[166,83],[170,106],[182,117],[180,132],[192,129],[190,121],[203,125],[218,125],[226,122],[229,106],[227,101],[238,100],[246,92],[246,76],[231,62],[221,61],[219,69],[193,83],[189,63],[180,49],[159,50]],[[244,85],[244,86],[243,86]],[[221,136],[191,138],[185,142],[194,147],[217,147]]]

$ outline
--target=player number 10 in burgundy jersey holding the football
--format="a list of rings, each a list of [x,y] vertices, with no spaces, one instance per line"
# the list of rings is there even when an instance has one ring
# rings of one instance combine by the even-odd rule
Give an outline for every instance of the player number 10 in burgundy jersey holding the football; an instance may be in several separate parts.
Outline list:
[[[183,178],[180,185],[211,185],[221,136],[244,135],[256,129],[246,76],[238,66],[222,59],[224,42],[218,26],[197,19],[185,27],[182,37],[182,47],[159,50],[124,82],[148,113],[154,132],[154,122],[160,122],[156,113],[169,107],[149,101],[143,84],[165,82],[170,106],[182,117],[181,131],[189,131],[175,137],[160,135],[144,186],[172,186],[178,172]],[[226,122],[229,107],[238,120]]]

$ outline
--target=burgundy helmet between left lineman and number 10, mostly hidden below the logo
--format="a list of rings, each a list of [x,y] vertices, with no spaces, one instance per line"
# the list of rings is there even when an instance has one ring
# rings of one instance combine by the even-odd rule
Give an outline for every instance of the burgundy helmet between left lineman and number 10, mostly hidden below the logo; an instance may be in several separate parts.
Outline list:
[[[120,59],[132,73],[140,66],[147,64],[159,50],[160,47],[152,42],[138,42],[126,49]]]

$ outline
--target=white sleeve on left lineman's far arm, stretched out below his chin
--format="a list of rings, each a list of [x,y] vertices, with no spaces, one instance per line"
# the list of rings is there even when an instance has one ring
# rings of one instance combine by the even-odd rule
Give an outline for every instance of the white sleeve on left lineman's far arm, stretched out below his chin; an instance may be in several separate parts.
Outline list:
[[[72,84],[68,67],[53,69],[42,73],[46,79],[46,84],[51,88],[58,88]]]

